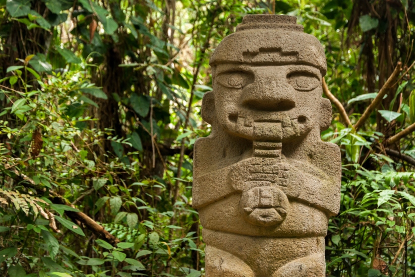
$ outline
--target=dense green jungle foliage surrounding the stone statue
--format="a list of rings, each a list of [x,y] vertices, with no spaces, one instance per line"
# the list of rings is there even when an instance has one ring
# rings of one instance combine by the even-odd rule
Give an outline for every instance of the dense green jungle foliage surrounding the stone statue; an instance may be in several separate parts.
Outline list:
[[[272,13],[325,47],[327,276],[414,276],[413,0],[0,0],[0,275],[203,276],[209,56]]]

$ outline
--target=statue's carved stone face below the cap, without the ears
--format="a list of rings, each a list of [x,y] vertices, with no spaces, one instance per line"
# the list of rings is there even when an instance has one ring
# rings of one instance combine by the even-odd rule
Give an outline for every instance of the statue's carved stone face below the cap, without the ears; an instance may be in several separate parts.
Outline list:
[[[286,142],[321,125],[322,77],[302,64],[218,64],[214,70],[218,123],[253,141]]]

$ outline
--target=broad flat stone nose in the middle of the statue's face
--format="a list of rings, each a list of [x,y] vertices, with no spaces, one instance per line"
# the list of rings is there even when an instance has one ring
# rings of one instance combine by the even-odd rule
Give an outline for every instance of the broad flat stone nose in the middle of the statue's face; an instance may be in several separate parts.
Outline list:
[[[258,80],[243,95],[243,104],[259,111],[285,111],[295,107],[295,92],[286,82]]]

